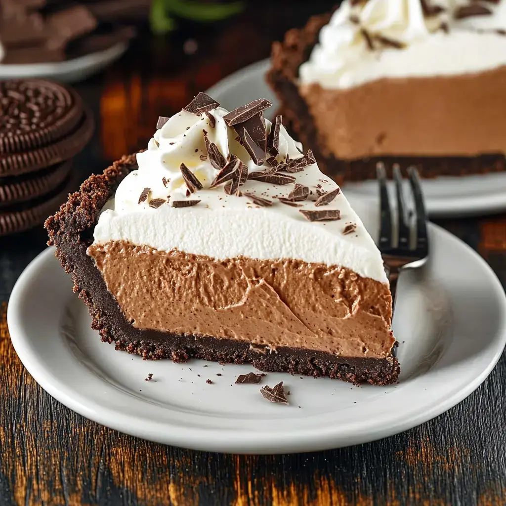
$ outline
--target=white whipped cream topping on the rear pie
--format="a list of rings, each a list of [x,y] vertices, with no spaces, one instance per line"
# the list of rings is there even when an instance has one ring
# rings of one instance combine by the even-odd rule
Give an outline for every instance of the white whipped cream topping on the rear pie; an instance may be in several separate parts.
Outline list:
[[[506,0],[344,0],[309,61],[301,84],[346,89],[385,77],[429,77],[491,70],[506,64]],[[459,17],[478,6],[488,15]],[[371,44],[374,49],[371,49]]]

